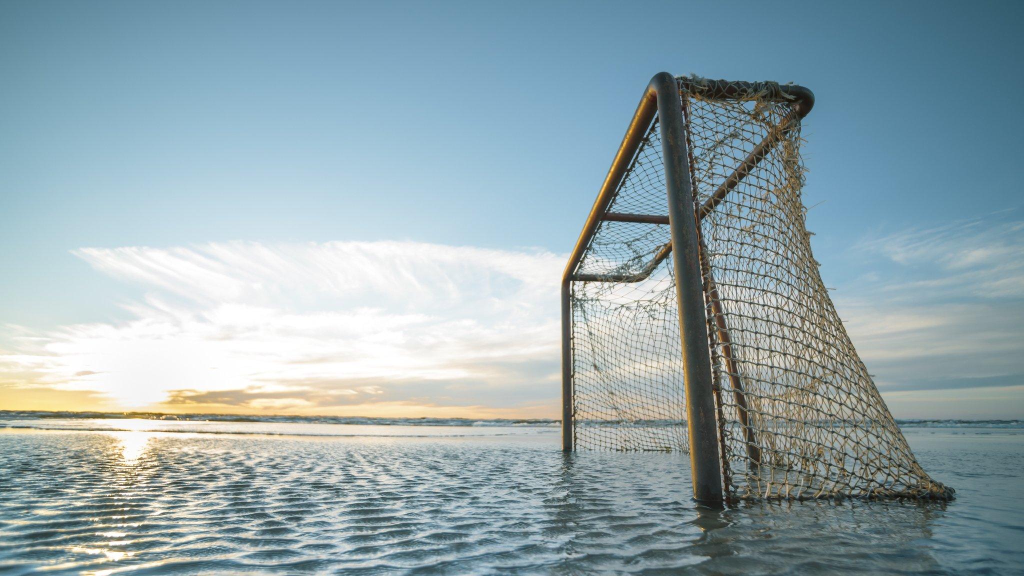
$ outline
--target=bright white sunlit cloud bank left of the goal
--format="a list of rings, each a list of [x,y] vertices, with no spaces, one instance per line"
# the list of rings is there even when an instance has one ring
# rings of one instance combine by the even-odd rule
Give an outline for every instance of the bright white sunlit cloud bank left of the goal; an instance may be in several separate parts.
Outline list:
[[[560,255],[412,242],[76,254],[150,293],[123,323],[20,334],[4,361],[29,384],[183,410],[510,411],[557,397]]]

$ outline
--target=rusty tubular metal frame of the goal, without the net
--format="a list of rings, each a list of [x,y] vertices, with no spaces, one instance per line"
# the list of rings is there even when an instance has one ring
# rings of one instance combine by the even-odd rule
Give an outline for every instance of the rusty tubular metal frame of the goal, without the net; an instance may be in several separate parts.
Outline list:
[[[739,99],[756,91],[761,86],[748,82],[727,82],[723,80],[701,80],[700,95],[713,99]],[[811,90],[798,85],[774,85],[779,100],[793,102],[791,117],[783,120],[797,122],[807,116],[814,106]],[[788,131],[787,126],[773,130],[733,172],[718,187],[711,198],[699,209],[694,206],[690,179],[690,165],[686,148],[686,132],[682,113],[681,93],[688,87],[685,80],[662,72],[651,78],[644,90],[640,104],[633,115],[626,135],[611,162],[611,167],[601,184],[600,192],[591,208],[583,232],[577,240],[568,263],[562,274],[561,322],[562,322],[562,450],[570,452],[574,448],[574,407],[572,394],[572,302],[573,282],[617,282],[632,283],[646,279],[670,255],[676,278],[676,298],[679,310],[680,340],[682,343],[683,389],[686,398],[686,419],[689,433],[690,467],[693,480],[693,495],[697,502],[720,506],[722,503],[722,471],[718,442],[718,422],[713,388],[711,349],[708,338],[708,317],[706,313],[706,286],[701,276],[703,257],[700,249],[698,222],[736,187],[768,152],[781,139],[780,134]],[[662,152],[665,162],[667,214],[624,214],[608,212],[623,178],[629,172],[636,155],[655,115],[662,136]],[[669,224],[672,242],[658,251],[639,275],[592,275],[578,274],[584,253],[602,221],[625,221]],[[712,284],[707,287],[716,305],[718,298]],[[720,315],[717,315],[720,318]],[[716,326],[716,331],[724,346],[724,360],[731,363],[728,352],[728,332],[724,323]],[[742,392],[739,388],[737,404],[740,404],[740,418],[745,419]],[[745,426],[744,426],[745,427]],[[750,434],[750,429],[748,433]],[[748,438],[750,455],[754,461],[759,457],[753,439]]]

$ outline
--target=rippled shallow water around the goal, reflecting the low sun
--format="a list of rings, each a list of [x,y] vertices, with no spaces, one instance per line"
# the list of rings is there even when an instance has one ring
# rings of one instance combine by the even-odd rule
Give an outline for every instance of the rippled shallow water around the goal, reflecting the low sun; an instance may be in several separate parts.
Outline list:
[[[904,430],[950,503],[708,511],[684,456],[550,426],[28,422],[0,429],[4,574],[1024,573],[1020,428]],[[289,425],[319,436],[244,434]]]

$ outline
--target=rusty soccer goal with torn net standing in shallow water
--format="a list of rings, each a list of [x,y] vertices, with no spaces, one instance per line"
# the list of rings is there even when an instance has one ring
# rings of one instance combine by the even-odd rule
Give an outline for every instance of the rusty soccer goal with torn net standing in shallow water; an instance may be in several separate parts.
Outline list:
[[[562,445],[688,452],[694,498],[941,498],[821,283],[810,90],[651,79],[562,279]]]

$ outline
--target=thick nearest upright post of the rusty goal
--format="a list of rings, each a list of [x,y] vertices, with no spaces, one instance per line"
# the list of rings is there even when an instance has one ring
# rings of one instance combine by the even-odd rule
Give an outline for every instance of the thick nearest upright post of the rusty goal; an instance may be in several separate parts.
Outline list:
[[[665,183],[672,231],[672,260],[679,302],[679,334],[683,345],[686,425],[690,440],[693,499],[722,505],[722,469],[718,450],[715,396],[712,389],[708,317],[700,278],[700,245],[694,217],[690,166],[686,154],[682,100],[676,78],[662,73],[650,81],[657,93]]]

